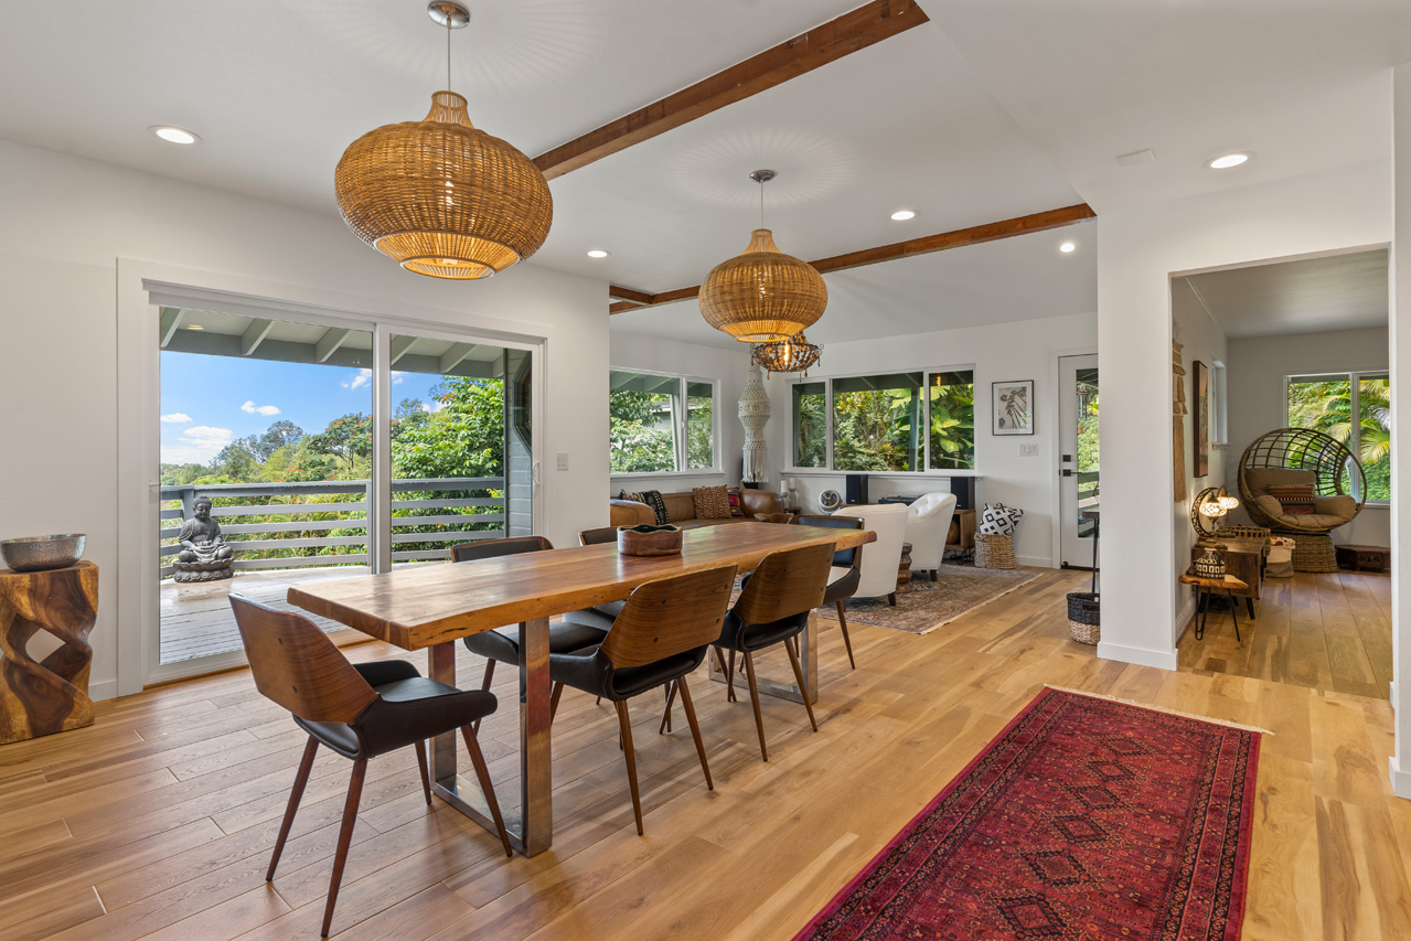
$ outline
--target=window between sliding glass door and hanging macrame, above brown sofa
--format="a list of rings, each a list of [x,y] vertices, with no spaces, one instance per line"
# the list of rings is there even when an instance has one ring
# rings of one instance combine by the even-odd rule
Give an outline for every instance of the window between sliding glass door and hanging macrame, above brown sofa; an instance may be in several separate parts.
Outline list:
[[[608,454],[614,474],[715,467],[715,382],[612,370]]]

